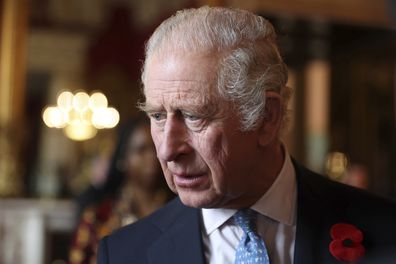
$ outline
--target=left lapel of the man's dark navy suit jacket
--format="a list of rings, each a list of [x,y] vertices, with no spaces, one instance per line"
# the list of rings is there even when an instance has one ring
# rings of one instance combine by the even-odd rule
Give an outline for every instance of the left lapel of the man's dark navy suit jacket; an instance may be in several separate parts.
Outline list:
[[[203,249],[199,224],[199,209],[186,207],[179,201],[177,215],[148,252],[151,264],[202,264]]]

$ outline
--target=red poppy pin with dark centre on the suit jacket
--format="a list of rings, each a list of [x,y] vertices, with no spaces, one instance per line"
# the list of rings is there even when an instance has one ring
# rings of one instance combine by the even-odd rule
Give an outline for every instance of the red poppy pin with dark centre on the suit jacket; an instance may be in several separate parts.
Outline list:
[[[330,229],[333,241],[329,245],[330,253],[344,263],[357,263],[364,256],[363,233],[356,226],[339,223]]]

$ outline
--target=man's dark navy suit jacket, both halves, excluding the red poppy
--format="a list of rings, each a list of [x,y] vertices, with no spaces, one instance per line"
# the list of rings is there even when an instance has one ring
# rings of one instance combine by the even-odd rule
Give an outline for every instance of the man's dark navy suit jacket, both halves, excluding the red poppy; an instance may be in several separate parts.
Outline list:
[[[327,180],[295,164],[297,175],[296,264],[340,263],[329,252],[330,228],[349,223],[364,235],[359,263],[396,263],[396,205]],[[200,211],[178,198],[151,216],[105,237],[99,264],[205,263]]]

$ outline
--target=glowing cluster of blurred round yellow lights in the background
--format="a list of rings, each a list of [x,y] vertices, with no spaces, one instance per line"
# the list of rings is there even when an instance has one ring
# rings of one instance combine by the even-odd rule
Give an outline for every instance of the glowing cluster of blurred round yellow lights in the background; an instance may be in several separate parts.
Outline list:
[[[56,106],[43,111],[43,121],[50,128],[63,129],[67,137],[82,141],[93,138],[98,129],[115,127],[120,121],[118,111],[108,107],[106,96],[101,92],[88,95],[80,91],[59,94]]]

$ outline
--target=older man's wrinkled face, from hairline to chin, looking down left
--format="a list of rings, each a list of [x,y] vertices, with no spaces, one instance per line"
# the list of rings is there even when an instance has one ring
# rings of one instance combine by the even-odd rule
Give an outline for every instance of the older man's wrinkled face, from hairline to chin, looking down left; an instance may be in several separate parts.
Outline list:
[[[263,189],[258,132],[241,132],[231,102],[216,92],[216,59],[154,55],[146,68],[146,111],[169,187],[193,207],[238,208]]]

